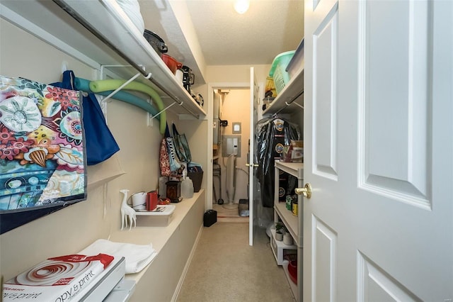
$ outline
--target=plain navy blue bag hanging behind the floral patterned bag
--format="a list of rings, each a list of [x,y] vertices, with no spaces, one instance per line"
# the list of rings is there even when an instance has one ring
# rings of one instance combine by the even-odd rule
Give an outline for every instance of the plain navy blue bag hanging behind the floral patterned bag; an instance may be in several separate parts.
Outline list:
[[[67,70],[63,73],[63,81],[52,83],[64,89],[78,90],[74,86],[74,72]],[[105,117],[94,94],[88,94],[82,99],[82,123],[85,128],[86,160],[88,165],[98,164],[108,160],[120,150],[110,129],[105,123]]]

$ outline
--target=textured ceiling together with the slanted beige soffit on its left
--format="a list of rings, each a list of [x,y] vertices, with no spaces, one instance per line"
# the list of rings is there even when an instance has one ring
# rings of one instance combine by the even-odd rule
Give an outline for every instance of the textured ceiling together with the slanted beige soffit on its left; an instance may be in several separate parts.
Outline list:
[[[251,0],[243,15],[234,11],[234,0],[139,3],[145,28],[164,39],[167,54],[192,68],[200,84],[208,65],[270,65],[304,36],[303,0]]]

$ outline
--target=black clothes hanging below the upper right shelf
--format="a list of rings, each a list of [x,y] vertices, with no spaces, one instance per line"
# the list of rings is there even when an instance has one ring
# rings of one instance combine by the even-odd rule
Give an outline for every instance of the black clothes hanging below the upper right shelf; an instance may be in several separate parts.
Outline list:
[[[300,132],[297,125],[285,121],[283,118],[263,118],[256,124],[256,159],[258,168],[256,176],[260,182],[261,198],[263,206],[272,208],[274,206],[274,164],[280,160],[283,147],[289,145],[291,140],[299,140]],[[296,185],[294,177],[288,174],[279,176],[280,191],[282,200],[289,192],[294,191]]]

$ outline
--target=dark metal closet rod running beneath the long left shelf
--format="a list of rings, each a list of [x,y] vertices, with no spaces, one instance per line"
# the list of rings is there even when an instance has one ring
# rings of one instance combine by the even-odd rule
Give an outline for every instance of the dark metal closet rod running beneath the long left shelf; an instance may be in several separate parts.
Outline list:
[[[170,92],[168,92],[167,89],[165,89],[163,86],[161,86],[161,84],[159,84],[159,82],[156,82],[155,79],[153,79],[152,77],[149,77],[149,72],[146,72],[140,65],[137,65],[137,63],[135,63],[134,61],[132,61],[130,59],[130,57],[128,57],[127,55],[125,55],[124,52],[122,52],[121,50],[117,49],[117,47],[115,45],[113,45],[112,43],[110,43],[110,41],[108,41],[107,39],[104,38],[103,35],[101,35],[101,33],[98,33],[98,31],[96,30],[96,28],[93,28],[93,26],[91,26],[84,18],[82,18],[79,13],[77,13],[76,11],[74,11],[73,9],[71,9],[69,6],[67,6],[66,4],[64,4],[62,1],[60,0],[53,0],[55,2],[55,4],[57,4],[59,7],[61,7],[64,11],[66,11],[67,13],[69,13],[69,15],[71,15],[72,18],[74,18],[77,22],[79,22],[82,26],[84,26],[84,28],[86,28],[87,30],[89,30],[93,35],[96,35],[96,38],[98,38],[99,40],[101,40],[105,45],[108,45],[108,47],[110,47],[111,50],[115,51],[117,53],[117,55],[120,55],[120,57],[122,57],[127,63],[129,63],[132,67],[134,67],[135,69],[137,69],[138,72],[140,72],[141,74],[143,74],[144,77],[146,77],[147,79],[149,79],[149,81],[151,81],[151,83],[153,83],[154,85],[156,85],[159,89],[161,89],[161,91],[164,91],[164,93],[169,96],[173,101],[175,101],[179,106],[182,106],[185,111],[188,111],[188,113],[190,113],[192,116],[194,116],[195,118],[199,118],[199,115],[198,114],[195,114],[193,113],[193,111],[191,111],[189,108],[185,107],[183,105],[183,101],[180,101],[178,98],[176,98],[176,96],[173,96],[171,95]],[[168,107],[167,107],[168,108]]]

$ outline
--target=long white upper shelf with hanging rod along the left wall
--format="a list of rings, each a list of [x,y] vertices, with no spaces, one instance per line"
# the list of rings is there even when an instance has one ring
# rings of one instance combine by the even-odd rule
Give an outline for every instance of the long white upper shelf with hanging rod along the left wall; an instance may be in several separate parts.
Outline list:
[[[156,90],[173,113],[206,115],[115,0],[6,0],[0,15],[94,69],[122,79],[141,74],[135,81]]]

